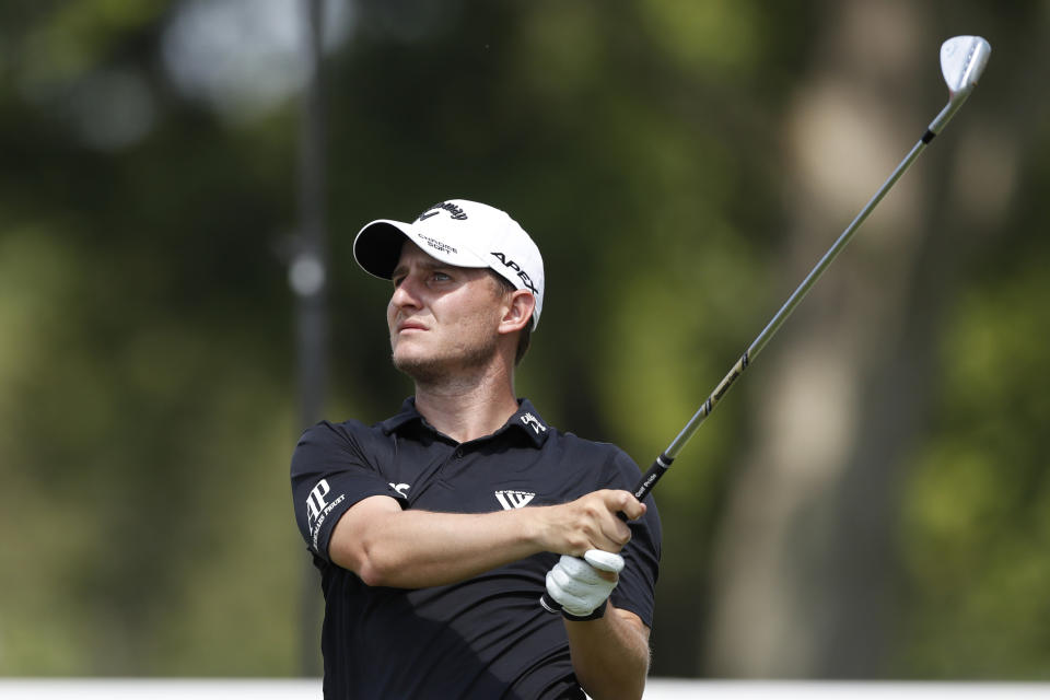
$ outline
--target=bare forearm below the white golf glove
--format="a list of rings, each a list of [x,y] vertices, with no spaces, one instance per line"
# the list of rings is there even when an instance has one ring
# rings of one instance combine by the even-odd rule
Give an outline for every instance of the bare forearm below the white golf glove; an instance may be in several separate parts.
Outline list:
[[[565,621],[572,666],[594,700],[638,699],[649,674],[649,628],[633,612],[609,603],[605,615]]]

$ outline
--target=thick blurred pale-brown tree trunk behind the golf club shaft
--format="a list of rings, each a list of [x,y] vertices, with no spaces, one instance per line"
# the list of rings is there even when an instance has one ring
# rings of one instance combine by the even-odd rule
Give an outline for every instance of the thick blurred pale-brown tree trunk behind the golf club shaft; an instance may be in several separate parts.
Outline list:
[[[785,298],[947,100],[920,9],[835,8],[786,117]],[[928,377],[906,332],[931,175],[922,162],[905,175],[752,370],[757,442],[718,538],[711,675],[878,676],[885,663],[894,467]]]

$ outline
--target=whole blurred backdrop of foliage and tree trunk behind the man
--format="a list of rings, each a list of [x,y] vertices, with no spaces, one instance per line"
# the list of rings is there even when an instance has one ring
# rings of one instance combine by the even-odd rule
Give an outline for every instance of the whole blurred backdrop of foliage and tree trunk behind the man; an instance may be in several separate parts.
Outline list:
[[[315,673],[288,268],[296,0],[0,5],[0,675]],[[372,422],[353,234],[465,197],[547,266],[517,380],[643,466],[980,88],[656,491],[653,673],[1050,679],[1050,2],[341,0],[325,417]],[[315,222],[316,223],[316,222]]]

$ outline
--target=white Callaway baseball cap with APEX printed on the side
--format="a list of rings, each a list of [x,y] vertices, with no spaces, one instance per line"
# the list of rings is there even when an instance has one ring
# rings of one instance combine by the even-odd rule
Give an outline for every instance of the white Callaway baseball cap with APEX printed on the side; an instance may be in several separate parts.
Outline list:
[[[412,223],[380,219],[353,240],[353,259],[388,280],[408,238],[433,258],[456,267],[488,267],[515,289],[536,298],[533,330],[544,306],[544,258],[525,230],[506,212],[466,199],[438,202]]]

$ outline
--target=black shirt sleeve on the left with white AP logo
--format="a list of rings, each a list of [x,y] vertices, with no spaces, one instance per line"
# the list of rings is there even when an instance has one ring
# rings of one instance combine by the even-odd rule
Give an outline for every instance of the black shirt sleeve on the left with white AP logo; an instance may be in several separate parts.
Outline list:
[[[354,430],[354,429],[358,430]],[[306,430],[292,454],[292,498],[295,523],[306,547],[325,561],[336,523],[353,504],[372,495],[404,497],[387,483],[358,433],[363,424],[328,421]]]

